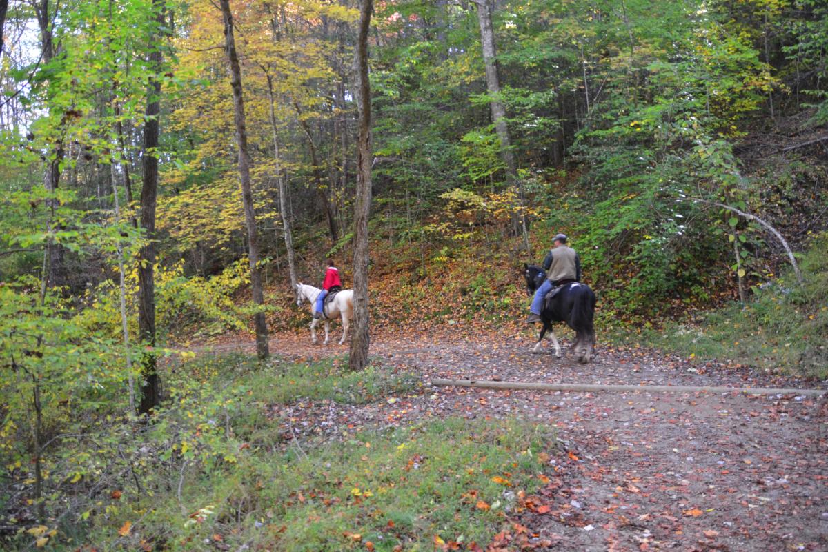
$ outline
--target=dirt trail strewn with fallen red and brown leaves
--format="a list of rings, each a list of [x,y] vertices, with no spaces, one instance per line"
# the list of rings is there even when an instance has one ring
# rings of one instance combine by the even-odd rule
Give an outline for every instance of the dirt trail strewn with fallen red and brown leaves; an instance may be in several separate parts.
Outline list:
[[[566,446],[556,474],[518,497],[492,550],[828,550],[828,400],[739,393],[537,392],[429,386],[431,377],[532,382],[826,386],[599,348],[583,366],[529,352],[527,332],[380,336],[371,353],[419,373],[420,391],[366,405],[300,401],[268,415],[288,439],[342,439],[446,416],[548,424]],[[233,345],[219,346],[230,348]],[[282,334],[272,351],[299,360],[347,353]],[[565,348],[565,353],[568,350]],[[452,545],[438,545],[451,547]],[[462,548],[462,547],[461,547]]]

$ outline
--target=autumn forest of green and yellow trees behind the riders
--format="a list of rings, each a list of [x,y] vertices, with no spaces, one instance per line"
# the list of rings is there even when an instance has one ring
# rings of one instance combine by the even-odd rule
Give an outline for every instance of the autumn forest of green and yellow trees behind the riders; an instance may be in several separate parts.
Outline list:
[[[498,323],[563,232],[599,325],[641,329],[794,289],[828,228],[820,0],[12,0],[0,30],[2,446],[41,517],[50,427],[151,411],[172,343],[255,318],[266,357],[326,257],[381,324]]]

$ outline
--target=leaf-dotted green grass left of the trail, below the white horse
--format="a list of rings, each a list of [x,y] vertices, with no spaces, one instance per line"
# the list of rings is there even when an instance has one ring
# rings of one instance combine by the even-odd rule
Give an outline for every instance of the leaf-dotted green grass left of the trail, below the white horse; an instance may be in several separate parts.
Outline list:
[[[118,423],[118,440],[96,444],[94,454],[62,445],[67,465],[55,473],[71,473],[72,462],[94,469],[60,489],[74,506],[43,526],[51,550],[485,546],[506,526],[518,492],[544,484],[556,449],[546,425],[457,418],[286,445],[266,406],[362,404],[414,391],[416,382],[379,365],[350,373],[343,359],[229,354],[166,369],[170,399],[152,424]],[[21,531],[0,545],[24,548],[35,538]]]

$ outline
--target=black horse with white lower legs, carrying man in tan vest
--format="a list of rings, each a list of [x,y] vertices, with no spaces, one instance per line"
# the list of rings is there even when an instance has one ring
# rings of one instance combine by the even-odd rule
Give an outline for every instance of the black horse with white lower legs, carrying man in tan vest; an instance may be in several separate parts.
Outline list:
[[[523,265],[526,277],[526,291],[534,295],[546,278],[546,272],[537,265]],[[575,353],[579,355],[578,362],[585,364],[592,358],[592,349],[595,347],[595,292],[590,286],[580,282],[572,282],[558,290],[551,300],[544,300],[541,309],[543,328],[537,339],[533,353],[541,350],[543,336],[549,332],[552,344],[555,346],[555,356],[561,358],[561,345],[552,330],[554,322],[566,322],[566,325],[575,330]]]

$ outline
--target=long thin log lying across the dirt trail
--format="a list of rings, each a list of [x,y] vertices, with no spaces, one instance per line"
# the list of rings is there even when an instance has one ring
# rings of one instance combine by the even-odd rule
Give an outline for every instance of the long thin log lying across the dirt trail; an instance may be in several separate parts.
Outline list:
[[[656,386],[656,385],[609,385],[590,383],[538,383],[538,382],[493,382],[489,380],[455,380],[437,377],[432,386],[481,387],[484,389],[518,389],[530,391],[657,391],[672,393],[745,393],[748,395],[808,395],[821,396],[828,389],[786,389],[768,387],[724,387],[724,386]]]

